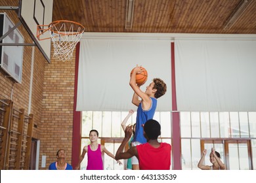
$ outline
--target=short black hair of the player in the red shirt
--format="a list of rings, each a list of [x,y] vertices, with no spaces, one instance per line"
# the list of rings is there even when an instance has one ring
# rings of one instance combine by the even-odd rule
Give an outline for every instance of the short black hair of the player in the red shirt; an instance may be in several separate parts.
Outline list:
[[[144,131],[148,139],[158,139],[161,135],[161,125],[156,120],[148,120],[144,125]]]

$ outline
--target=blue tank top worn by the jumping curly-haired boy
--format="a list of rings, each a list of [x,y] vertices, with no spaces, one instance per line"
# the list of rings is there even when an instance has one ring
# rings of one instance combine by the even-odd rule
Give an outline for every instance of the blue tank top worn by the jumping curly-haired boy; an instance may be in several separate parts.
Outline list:
[[[143,110],[142,103],[139,104],[139,107],[137,109],[136,130],[133,142],[138,141],[142,144],[146,143],[146,138],[143,135],[142,124],[145,124],[146,121],[153,119],[156,111],[156,105],[158,103],[156,98],[150,97],[150,99],[152,101],[150,109]]]

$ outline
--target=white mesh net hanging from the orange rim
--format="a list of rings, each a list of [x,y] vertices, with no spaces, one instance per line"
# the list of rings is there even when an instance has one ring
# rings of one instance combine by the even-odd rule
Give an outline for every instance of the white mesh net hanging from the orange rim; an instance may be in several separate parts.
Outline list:
[[[75,29],[75,31],[74,31]],[[60,22],[58,27],[55,24],[49,29],[53,41],[53,56],[61,61],[69,61],[73,57],[75,45],[81,39],[84,27],[69,22]]]

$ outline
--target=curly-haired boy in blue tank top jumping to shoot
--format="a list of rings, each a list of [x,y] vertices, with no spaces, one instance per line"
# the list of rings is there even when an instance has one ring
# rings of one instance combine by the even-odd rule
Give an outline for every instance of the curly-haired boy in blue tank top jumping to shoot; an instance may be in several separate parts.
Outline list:
[[[153,82],[146,87],[146,91],[140,90],[141,84],[136,83],[136,74],[142,73],[142,67],[135,67],[130,78],[130,86],[133,88],[133,100],[132,103],[138,107],[137,118],[136,118],[136,130],[135,137],[133,139],[133,146],[146,143],[146,138],[143,135],[143,127],[146,121],[153,119],[157,99],[165,94],[166,84],[160,78],[154,78]],[[139,99],[140,97],[140,99]],[[136,156],[132,158],[133,170],[139,169],[139,160]]]

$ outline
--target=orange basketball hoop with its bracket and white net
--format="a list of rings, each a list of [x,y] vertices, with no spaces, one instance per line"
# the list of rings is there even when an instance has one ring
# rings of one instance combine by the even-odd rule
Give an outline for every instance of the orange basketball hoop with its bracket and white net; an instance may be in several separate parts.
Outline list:
[[[45,26],[47,26],[46,29],[43,28]],[[46,31],[49,31],[51,37],[40,39]],[[75,45],[84,31],[85,27],[77,22],[58,20],[49,25],[37,25],[37,39],[39,41],[51,39],[54,48],[53,56],[61,61],[68,61],[72,59]]]

